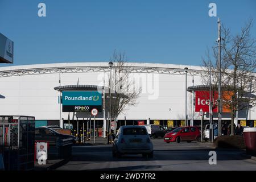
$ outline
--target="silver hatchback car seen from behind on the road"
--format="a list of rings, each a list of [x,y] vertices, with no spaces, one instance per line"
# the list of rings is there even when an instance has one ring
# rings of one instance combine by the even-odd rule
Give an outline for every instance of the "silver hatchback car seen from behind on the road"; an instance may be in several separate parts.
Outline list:
[[[144,126],[121,126],[115,135],[113,157],[122,154],[142,154],[153,157],[153,144]]]

